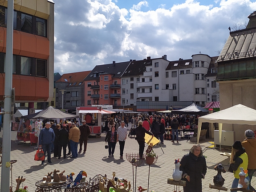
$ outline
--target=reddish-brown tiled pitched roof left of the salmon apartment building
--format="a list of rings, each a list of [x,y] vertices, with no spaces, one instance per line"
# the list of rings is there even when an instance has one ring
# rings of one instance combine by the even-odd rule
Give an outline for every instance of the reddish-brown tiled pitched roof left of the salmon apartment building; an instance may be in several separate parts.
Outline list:
[[[73,72],[73,73],[65,73],[61,76],[59,80],[56,82],[65,82],[65,83],[72,83],[72,86],[78,86],[83,84],[84,78],[90,73],[91,71],[84,71],[84,72]],[[81,83],[82,82],[82,83]],[[76,84],[74,84],[76,83]],[[81,84],[80,84],[81,83]]]

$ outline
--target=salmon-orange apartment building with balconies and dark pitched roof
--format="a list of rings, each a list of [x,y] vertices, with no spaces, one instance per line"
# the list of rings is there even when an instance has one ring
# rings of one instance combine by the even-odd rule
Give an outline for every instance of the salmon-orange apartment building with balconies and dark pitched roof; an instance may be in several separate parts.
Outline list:
[[[128,62],[97,65],[85,80],[85,106],[121,105],[121,76]]]

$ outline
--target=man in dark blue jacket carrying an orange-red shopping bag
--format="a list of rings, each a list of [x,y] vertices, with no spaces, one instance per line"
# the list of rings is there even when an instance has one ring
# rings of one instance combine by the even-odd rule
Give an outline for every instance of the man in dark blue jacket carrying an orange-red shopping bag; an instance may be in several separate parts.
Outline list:
[[[45,124],[45,128],[43,128],[39,134],[39,140],[38,144],[39,147],[43,148],[44,153],[47,152],[47,160],[49,164],[53,164],[51,161],[51,149],[52,144],[55,139],[55,134],[53,132],[53,129],[50,128],[51,124],[50,122],[47,122]],[[42,165],[45,164],[45,160],[42,160]]]

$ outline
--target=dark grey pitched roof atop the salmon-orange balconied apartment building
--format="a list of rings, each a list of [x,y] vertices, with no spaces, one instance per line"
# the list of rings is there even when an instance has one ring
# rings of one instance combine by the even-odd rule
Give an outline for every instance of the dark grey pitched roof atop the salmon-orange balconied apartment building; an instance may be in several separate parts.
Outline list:
[[[113,61],[112,64],[96,65],[84,80],[99,80],[101,74],[111,74],[114,79],[120,78],[129,64],[130,61],[120,63]],[[96,73],[96,77],[93,77],[94,73]]]

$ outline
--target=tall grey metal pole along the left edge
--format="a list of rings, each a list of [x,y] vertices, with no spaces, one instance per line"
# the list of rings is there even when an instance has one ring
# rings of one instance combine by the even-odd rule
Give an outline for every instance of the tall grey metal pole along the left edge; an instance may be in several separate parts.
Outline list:
[[[11,156],[11,112],[12,112],[12,42],[13,42],[13,0],[8,0],[6,62],[4,80],[4,126],[1,168],[1,191],[10,191]]]

